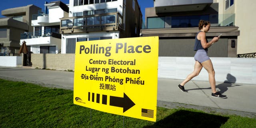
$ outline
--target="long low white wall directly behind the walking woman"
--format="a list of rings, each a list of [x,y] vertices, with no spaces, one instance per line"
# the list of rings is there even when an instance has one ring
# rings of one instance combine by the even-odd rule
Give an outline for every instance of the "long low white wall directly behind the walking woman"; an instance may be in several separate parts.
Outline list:
[[[256,84],[255,58],[212,57],[217,82]],[[193,57],[159,57],[158,78],[185,79],[194,70]],[[203,68],[192,80],[208,81],[208,72]]]

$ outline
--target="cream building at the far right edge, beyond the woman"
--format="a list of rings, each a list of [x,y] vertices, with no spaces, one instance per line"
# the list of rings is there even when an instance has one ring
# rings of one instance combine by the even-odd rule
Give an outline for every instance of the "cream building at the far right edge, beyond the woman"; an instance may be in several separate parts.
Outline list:
[[[255,0],[216,0],[219,4],[220,23],[223,26],[238,26],[237,54],[254,53],[256,55],[256,27],[253,15],[256,11]],[[233,21],[230,19],[234,19]]]

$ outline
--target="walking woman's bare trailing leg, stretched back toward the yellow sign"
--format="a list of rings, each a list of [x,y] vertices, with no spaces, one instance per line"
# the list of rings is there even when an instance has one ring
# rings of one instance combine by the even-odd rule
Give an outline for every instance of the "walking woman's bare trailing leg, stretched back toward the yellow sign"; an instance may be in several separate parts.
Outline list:
[[[194,71],[187,76],[187,78],[180,84],[181,86],[184,86],[188,81],[190,81],[192,78],[195,76],[198,76],[198,74],[201,72],[203,66],[196,61],[195,66],[194,66]]]

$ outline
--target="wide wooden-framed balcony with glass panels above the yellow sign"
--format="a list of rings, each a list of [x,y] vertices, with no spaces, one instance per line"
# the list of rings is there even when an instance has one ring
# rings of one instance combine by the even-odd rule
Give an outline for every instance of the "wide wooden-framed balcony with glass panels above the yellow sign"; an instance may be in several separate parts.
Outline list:
[[[118,12],[60,19],[60,33],[122,30],[123,17]]]

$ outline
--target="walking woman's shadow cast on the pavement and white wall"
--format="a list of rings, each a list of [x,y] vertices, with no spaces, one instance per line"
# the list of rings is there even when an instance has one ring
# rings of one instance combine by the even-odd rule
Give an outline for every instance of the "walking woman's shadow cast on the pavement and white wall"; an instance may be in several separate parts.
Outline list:
[[[232,76],[231,74],[227,74],[227,80],[225,80],[223,83],[216,85],[216,90],[220,92],[220,94],[226,92],[229,87],[234,87],[234,86],[241,86],[239,84],[234,84],[236,83],[236,77]],[[202,89],[211,89],[209,88],[194,88],[194,89],[188,89],[189,90],[202,90]]]

